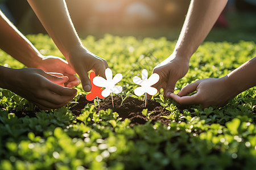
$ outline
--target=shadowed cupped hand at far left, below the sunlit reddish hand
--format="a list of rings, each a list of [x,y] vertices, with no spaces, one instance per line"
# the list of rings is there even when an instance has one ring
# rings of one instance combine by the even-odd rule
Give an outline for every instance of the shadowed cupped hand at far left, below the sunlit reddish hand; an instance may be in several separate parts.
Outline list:
[[[4,88],[30,100],[44,110],[63,107],[77,92],[73,88],[57,85],[67,82],[67,76],[53,76],[40,69],[10,69],[6,77]]]

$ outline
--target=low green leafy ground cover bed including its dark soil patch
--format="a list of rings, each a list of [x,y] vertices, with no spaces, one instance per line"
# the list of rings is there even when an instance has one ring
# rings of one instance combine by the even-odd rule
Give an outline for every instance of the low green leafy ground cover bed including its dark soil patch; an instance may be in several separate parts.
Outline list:
[[[28,39],[44,55],[61,56],[48,36]],[[175,41],[106,35],[82,40],[121,73],[121,94],[88,101],[81,85],[66,107],[42,111],[7,90],[0,92],[0,169],[254,169],[256,87],[225,107],[181,106],[156,94],[135,96],[133,76],[168,57]],[[204,42],[176,91],[201,78],[219,78],[256,56],[254,42]],[[125,62],[123,62],[125,61]],[[0,50],[0,63],[19,69]],[[126,97],[127,96],[127,97]]]

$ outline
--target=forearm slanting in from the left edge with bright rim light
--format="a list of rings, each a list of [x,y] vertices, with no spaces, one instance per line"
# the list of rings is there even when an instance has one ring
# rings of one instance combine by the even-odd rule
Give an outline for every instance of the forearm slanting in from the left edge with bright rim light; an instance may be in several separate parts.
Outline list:
[[[0,11],[0,48],[27,67],[35,67],[42,55]]]

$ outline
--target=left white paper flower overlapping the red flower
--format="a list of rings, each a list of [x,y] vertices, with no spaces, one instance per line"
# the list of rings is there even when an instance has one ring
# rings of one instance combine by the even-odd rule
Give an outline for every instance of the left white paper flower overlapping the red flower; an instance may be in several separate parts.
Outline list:
[[[105,90],[101,92],[101,95],[104,97],[108,97],[110,93],[121,93],[123,90],[122,86],[115,86],[115,84],[122,80],[122,74],[116,74],[112,79],[112,70],[108,68],[105,70],[105,75],[106,79],[102,78],[101,76],[96,76],[93,79],[93,84],[99,87],[105,87]]]

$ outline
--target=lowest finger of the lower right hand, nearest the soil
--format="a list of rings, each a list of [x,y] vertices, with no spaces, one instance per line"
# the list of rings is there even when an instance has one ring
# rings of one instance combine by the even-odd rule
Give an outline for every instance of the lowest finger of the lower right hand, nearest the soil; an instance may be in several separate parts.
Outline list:
[[[170,94],[170,97],[181,105],[199,104],[199,97],[197,94],[192,96],[181,96],[181,97],[176,94]]]

